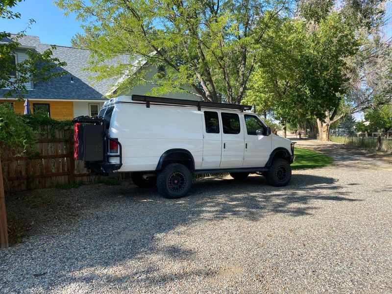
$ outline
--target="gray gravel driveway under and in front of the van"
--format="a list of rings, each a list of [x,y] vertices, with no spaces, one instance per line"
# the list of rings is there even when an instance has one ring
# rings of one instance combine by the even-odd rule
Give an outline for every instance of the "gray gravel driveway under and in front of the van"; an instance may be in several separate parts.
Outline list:
[[[284,188],[250,176],[197,180],[177,200],[128,183],[18,193],[9,219],[31,232],[0,251],[0,293],[392,293],[392,165],[344,165],[339,148],[336,166]]]

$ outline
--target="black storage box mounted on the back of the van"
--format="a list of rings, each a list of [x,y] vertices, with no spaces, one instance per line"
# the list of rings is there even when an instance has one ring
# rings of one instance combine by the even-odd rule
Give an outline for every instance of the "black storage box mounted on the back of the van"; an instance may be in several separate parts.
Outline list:
[[[103,125],[81,123],[77,132],[77,157],[83,161],[103,161]]]

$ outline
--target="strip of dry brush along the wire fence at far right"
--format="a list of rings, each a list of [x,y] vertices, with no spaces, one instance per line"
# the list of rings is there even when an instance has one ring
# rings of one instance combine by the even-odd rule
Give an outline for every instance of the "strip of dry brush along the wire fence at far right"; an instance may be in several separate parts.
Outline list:
[[[334,134],[330,139],[348,146],[392,152],[392,136],[389,133]]]

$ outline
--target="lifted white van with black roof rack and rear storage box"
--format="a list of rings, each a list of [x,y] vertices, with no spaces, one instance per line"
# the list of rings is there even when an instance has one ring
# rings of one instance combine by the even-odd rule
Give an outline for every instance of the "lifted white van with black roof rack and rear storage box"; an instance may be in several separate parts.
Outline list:
[[[271,134],[251,106],[133,95],[105,102],[98,118],[75,122],[75,159],[92,172],[131,172],[139,187],[185,196],[192,174],[262,174],[273,186],[291,178],[294,143]]]

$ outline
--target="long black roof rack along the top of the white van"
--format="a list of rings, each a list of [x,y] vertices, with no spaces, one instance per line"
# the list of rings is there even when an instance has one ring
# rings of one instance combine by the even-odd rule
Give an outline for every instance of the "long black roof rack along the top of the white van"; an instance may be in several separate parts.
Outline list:
[[[132,100],[146,102],[147,107],[150,107],[150,103],[157,103],[157,104],[172,104],[172,105],[182,105],[182,106],[196,106],[198,110],[201,110],[201,107],[233,109],[233,110],[241,110],[241,111],[252,109],[252,106],[250,105],[205,102],[205,101],[174,99],[174,98],[161,98],[161,97],[151,97],[151,96],[144,96],[144,95],[132,95]]]

